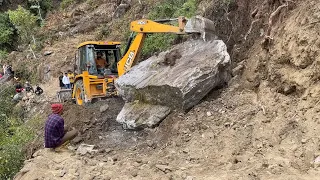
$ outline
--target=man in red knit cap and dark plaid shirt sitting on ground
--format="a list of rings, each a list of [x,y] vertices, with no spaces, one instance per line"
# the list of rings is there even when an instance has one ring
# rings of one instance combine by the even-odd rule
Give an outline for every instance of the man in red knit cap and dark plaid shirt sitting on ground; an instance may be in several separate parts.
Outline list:
[[[68,140],[74,139],[78,135],[78,131],[73,129],[67,132],[64,128],[64,119],[62,104],[51,105],[52,114],[48,117],[45,125],[45,147],[57,148]]]

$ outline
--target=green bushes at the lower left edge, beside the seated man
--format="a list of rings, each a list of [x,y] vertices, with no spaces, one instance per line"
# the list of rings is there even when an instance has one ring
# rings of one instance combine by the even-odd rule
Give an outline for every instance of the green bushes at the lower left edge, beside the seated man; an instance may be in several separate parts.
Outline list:
[[[0,91],[0,179],[12,178],[24,161],[23,149],[35,136],[40,118],[34,117],[28,123],[21,119],[21,107],[14,107],[12,86],[1,86]],[[31,128],[32,127],[32,128]]]

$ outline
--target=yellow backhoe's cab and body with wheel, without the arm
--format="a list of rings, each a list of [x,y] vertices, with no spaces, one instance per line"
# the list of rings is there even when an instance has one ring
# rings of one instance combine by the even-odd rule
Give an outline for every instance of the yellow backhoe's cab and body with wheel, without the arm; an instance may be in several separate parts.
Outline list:
[[[78,46],[72,98],[86,105],[95,98],[117,95],[113,82],[118,77],[120,42],[88,41]]]

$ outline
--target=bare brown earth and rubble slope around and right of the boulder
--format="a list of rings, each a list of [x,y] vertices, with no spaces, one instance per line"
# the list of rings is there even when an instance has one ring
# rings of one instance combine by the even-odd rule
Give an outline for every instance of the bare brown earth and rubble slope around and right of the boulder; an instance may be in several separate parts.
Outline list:
[[[283,2],[236,2],[227,9],[232,25],[217,18],[235,62],[228,87],[138,132],[115,122],[119,99],[96,104],[113,104],[109,113],[67,105],[69,125],[81,130],[74,143],[98,151],[41,150],[16,179],[319,179],[319,3],[288,1],[265,38]],[[202,1],[207,17],[219,13],[214,3]]]

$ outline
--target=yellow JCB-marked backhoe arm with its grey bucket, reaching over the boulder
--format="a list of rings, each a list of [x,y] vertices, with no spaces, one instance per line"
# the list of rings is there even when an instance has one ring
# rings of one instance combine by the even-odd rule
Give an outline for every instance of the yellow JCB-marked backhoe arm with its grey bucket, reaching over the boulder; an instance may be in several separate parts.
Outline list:
[[[163,24],[170,21],[178,21],[178,26]],[[209,27],[209,28],[208,28]],[[130,30],[136,33],[134,39],[131,38],[128,43],[125,55],[118,62],[118,74],[123,75],[129,71],[139,58],[139,54],[142,50],[146,35],[149,33],[173,33],[173,34],[188,34],[199,33],[203,34],[208,29],[213,30],[214,25],[208,19],[193,18],[187,20],[185,17],[179,17],[175,19],[163,19],[163,20],[148,20],[141,19],[133,21],[130,24]],[[207,29],[205,29],[207,28]],[[203,32],[202,32],[203,31]]]

